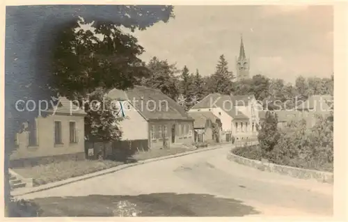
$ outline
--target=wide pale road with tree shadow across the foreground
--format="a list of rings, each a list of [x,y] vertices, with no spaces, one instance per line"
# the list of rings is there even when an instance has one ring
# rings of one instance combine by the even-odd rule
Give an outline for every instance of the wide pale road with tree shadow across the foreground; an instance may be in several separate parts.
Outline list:
[[[64,216],[109,215],[120,198],[143,205],[144,216],[332,216],[331,184],[236,164],[228,151],[141,164],[23,198]]]

